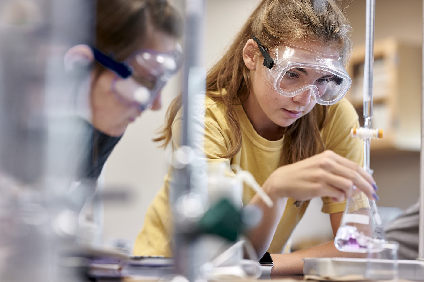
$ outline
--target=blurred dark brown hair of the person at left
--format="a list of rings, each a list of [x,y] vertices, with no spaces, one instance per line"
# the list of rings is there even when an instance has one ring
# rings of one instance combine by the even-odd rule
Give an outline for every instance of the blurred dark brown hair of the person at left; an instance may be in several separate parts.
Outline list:
[[[140,49],[147,25],[176,38],[182,34],[182,17],[166,0],[97,0],[95,47],[123,61]],[[106,69],[96,63],[94,70],[98,78]]]

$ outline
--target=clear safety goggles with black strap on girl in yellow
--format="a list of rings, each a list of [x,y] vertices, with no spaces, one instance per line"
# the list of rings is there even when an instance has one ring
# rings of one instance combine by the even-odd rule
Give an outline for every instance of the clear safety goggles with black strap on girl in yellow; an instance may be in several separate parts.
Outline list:
[[[264,79],[280,95],[294,97],[310,92],[318,104],[332,105],[351,87],[351,78],[339,56],[280,42],[271,57],[259,40],[253,39],[264,56]]]

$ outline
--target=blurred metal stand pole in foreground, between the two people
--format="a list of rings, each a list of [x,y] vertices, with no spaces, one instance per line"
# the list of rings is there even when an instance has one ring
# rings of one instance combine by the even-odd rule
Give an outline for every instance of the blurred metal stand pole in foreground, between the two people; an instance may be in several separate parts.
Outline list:
[[[174,183],[171,185],[170,201],[174,215],[174,257],[176,272],[189,281],[198,278],[198,266],[202,253],[195,247],[200,236],[194,229],[187,228],[196,223],[204,207],[201,195],[203,189],[201,156],[196,148],[203,147],[202,116],[204,107],[205,75],[203,66],[204,51],[204,0],[185,1],[184,25],[184,66],[182,83],[182,132],[179,153],[187,162],[175,168]],[[203,96],[203,99],[202,99]],[[201,108],[199,107],[201,106]],[[200,126],[200,128],[198,128]],[[197,128],[196,128],[197,127]],[[197,130],[196,130],[197,129]],[[199,138],[200,137],[200,138]],[[176,154],[174,154],[176,155]],[[204,180],[204,179],[203,179]],[[199,197],[200,196],[200,197]],[[178,218],[177,218],[178,217]]]

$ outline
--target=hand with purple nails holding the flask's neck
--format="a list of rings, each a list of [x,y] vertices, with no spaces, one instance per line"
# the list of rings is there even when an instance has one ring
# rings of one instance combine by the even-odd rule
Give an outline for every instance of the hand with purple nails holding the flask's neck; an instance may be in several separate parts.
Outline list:
[[[315,197],[343,201],[359,192],[364,192],[368,198],[378,199],[375,194],[377,185],[372,176],[356,162],[330,150],[277,168],[263,188],[271,197],[290,197],[301,201]]]

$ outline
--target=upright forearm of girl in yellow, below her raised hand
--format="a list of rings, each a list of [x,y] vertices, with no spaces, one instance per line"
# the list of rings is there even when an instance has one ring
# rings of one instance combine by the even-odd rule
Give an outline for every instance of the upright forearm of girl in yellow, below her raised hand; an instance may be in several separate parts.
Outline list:
[[[259,257],[262,257],[270,246],[275,230],[284,213],[286,203],[287,198],[280,198],[274,200],[274,205],[270,208],[257,195],[249,202],[249,205],[257,206],[263,212],[259,225],[248,233],[248,238]]]

